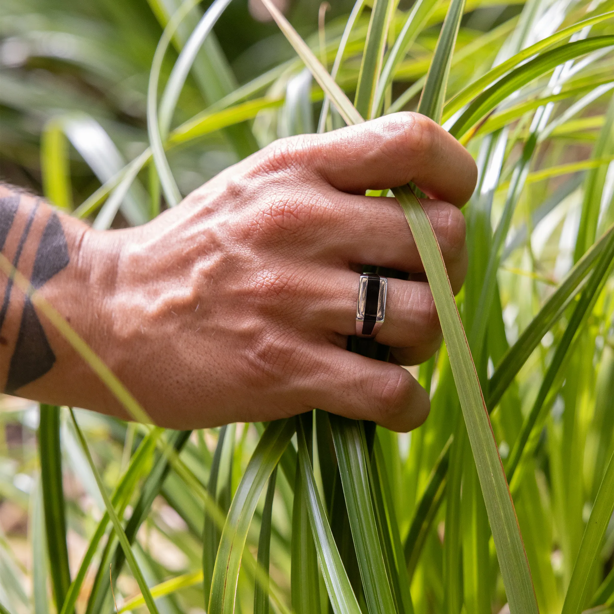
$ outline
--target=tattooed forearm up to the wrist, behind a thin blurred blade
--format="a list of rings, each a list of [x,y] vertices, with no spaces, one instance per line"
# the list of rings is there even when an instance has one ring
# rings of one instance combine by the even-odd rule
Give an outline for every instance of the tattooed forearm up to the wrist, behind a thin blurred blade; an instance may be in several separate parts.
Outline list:
[[[0,251],[95,351],[111,321],[113,253],[96,257],[91,231],[36,196],[0,185]],[[99,260],[99,262],[96,262]],[[14,279],[0,273],[0,387],[41,402],[112,407],[109,393]]]

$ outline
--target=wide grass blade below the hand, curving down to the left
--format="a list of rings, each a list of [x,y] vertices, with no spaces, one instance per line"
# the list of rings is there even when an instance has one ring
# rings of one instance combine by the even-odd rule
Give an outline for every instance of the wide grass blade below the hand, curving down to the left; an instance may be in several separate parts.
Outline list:
[[[295,432],[292,420],[271,422],[247,465],[228,511],[213,570],[209,614],[232,614],[247,530],[266,482]]]

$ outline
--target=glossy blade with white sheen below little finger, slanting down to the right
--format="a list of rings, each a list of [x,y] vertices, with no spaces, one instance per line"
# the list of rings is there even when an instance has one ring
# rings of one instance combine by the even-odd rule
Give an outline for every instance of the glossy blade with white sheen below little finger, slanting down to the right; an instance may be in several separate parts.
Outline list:
[[[305,484],[309,521],[333,612],[335,614],[362,614],[317,491],[313,468],[309,461],[305,432],[303,432],[301,423],[298,424],[297,438],[298,464]]]

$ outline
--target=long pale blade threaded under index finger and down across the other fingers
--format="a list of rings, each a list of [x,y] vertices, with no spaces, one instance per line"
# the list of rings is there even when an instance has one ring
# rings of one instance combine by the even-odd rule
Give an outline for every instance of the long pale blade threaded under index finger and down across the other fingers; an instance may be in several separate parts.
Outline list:
[[[356,118],[359,114],[347,96],[331,79],[286,18],[273,6],[271,0],[263,0],[263,2],[298,55],[313,72],[322,89],[338,107],[344,119],[347,121]],[[513,614],[537,613],[537,600],[518,519],[437,238],[429,218],[411,188],[406,185],[394,188],[392,192],[410,225],[435,299],[443,336],[450,355],[454,381],[467,424],[469,440],[478,468],[510,611]]]

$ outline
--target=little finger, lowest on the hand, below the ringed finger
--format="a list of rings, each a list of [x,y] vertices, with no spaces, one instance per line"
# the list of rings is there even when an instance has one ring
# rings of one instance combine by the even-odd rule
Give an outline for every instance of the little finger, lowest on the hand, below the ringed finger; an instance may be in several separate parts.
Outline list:
[[[317,370],[308,395],[314,407],[399,432],[429,415],[429,395],[402,367],[334,347],[321,356],[325,368]]]

